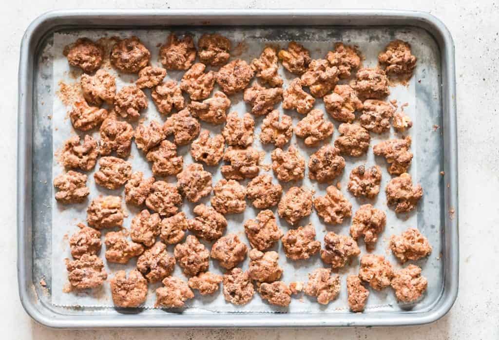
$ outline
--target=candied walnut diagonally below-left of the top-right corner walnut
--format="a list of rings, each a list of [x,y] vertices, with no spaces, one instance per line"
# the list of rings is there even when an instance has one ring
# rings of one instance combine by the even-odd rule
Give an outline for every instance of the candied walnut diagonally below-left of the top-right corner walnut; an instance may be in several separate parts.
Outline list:
[[[390,94],[388,77],[379,68],[361,68],[357,71],[357,81],[353,89],[363,99],[383,99]]]

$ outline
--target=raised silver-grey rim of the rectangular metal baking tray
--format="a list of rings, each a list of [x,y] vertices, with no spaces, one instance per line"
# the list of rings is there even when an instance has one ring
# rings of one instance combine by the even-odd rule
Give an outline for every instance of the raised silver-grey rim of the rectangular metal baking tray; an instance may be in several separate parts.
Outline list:
[[[149,19],[147,24],[140,23]],[[293,22],[286,22],[292,18]],[[139,328],[139,327],[376,327],[414,326],[432,323],[453,306],[459,286],[458,214],[445,214],[443,256],[444,291],[431,311],[404,313],[390,317],[352,314],[349,317],[317,318],[318,314],[209,314],[185,318],[181,314],[138,317],[137,315],[46,315],[47,307],[37,301],[31,272],[31,107],[33,102],[34,53],[40,41],[61,26],[139,26],[166,25],[245,25],[256,21],[267,25],[362,26],[406,25],[428,31],[441,50],[442,110],[445,181],[444,208],[458,209],[458,155],[456,118],[456,80],[454,42],[445,24],[435,16],[420,11],[385,9],[73,9],[41,14],[27,27],[20,48],[18,72],[17,127],[17,280],[19,298],[26,313],[36,322],[52,328]],[[236,19],[236,21],[233,21]],[[232,20],[232,21],[231,21]],[[276,22],[277,20],[277,22]],[[236,23],[237,22],[237,23]],[[29,260],[28,260],[29,259]]]

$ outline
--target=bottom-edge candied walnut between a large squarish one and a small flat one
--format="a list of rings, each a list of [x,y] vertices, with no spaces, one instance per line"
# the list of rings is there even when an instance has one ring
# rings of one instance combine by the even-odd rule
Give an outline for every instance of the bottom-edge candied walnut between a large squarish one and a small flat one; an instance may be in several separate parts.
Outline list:
[[[156,289],[156,304],[154,307],[181,308],[186,300],[193,299],[194,293],[187,283],[175,276],[163,280],[165,287]]]

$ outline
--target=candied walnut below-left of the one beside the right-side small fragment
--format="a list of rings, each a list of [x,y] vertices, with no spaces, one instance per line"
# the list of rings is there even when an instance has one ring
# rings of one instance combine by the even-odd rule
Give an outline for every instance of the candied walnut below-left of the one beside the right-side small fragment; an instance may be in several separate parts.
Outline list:
[[[340,149],[341,153],[360,157],[369,149],[371,135],[360,125],[343,123],[338,127],[338,132],[341,136],[334,141],[334,146]]]

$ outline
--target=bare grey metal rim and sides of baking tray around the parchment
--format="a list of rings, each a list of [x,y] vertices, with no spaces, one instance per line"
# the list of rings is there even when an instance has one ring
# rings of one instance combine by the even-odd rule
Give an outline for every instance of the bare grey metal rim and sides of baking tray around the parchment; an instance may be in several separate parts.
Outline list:
[[[416,178],[435,194],[420,204],[420,224],[437,229],[439,282],[437,294],[422,308],[396,313],[369,311],[353,313],[203,313],[165,314],[154,310],[123,311],[101,308],[63,308],[50,303],[50,289],[38,284],[44,278],[50,287],[51,238],[50,209],[53,150],[51,129],[47,127],[50,96],[40,86],[51,78],[44,66],[42,50],[54,32],[67,29],[123,28],[150,29],[183,26],[196,29],[213,26],[268,26],[269,31],[289,35],[285,26],[313,27],[330,32],[331,42],[341,40],[343,29],[386,27],[393,30],[424,31],[425,43],[435,45],[437,71],[419,67],[415,77],[424,78],[416,89],[418,109],[429,124],[440,128],[432,135],[436,143],[422,143],[416,164],[431,155],[435,169]],[[305,30],[304,30],[305,31]],[[287,38],[292,38],[286,36]],[[373,36],[373,39],[376,39]],[[428,85],[429,83],[429,85]],[[48,91],[50,93],[50,89]],[[53,92],[51,93],[53,96]],[[48,110],[48,111],[47,111]],[[419,110],[418,110],[419,111]],[[47,113],[48,112],[48,113]],[[37,18],[26,30],[19,66],[18,128],[18,282],[26,312],[39,323],[59,328],[97,327],[315,327],[315,326],[397,326],[435,321],[445,315],[458,291],[457,150],[454,46],[450,33],[435,17],[421,12],[386,10],[78,10],[53,11]],[[417,128],[417,127],[415,127]],[[414,129],[414,128],[413,128]],[[49,132],[48,132],[49,131]],[[423,136],[425,136],[423,134]],[[435,137],[437,136],[437,137]],[[418,147],[420,148],[420,147]],[[435,161],[436,159],[436,161]],[[435,171],[445,175],[435,179]],[[426,195],[425,195],[426,196]],[[421,222],[420,222],[421,221]]]

